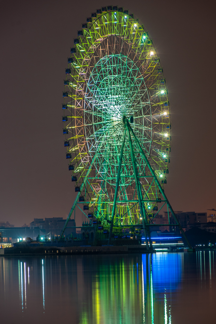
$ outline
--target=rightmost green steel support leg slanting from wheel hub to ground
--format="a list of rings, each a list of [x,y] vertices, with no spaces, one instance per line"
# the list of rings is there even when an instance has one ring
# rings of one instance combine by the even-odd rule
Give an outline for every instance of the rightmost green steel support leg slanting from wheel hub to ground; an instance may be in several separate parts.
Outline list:
[[[164,190],[163,190],[163,188],[162,188],[161,185],[160,185],[160,182],[159,182],[158,179],[157,179],[157,176],[156,176],[156,174],[155,174],[155,171],[154,171],[153,168],[151,167],[151,165],[150,165],[150,163],[149,163],[149,161],[148,161],[148,159],[147,159],[147,157],[146,157],[146,155],[145,155],[145,153],[144,153],[144,151],[143,151],[143,149],[142,149],[142,147],[141,147],[141,145],[140,145],[140,143],[139,143],[139,140],[138,140],[138,138],[136,137],[135,133],[133,132],[133,130],[132,130],[132,128],[131,128],[131,125],[129,124],[128,121],[127,121],[127,126],[128,126],[128,128],[130,129],[130,132],[132,133],[132,136],[133,136],[133,138],[134,138],[134,140],[135,140],[135,143],[137,144],[137,146],[138,146],[138,148],[139,148],[139,150],[140,150],[140,153],[143,155],[143,158],[144,158],[144,160],[145,160],[145,162],[146,162],[146,165],[147,165],[147,167],[149,168],[149,170],[150,170],[152,176],[154,177],[155,182],[157,183],[157,186],[158,186],[158,188],[159,188],[159,190],[160,190],[162,196],[164,197],[164,200],[166,201],[167,206],[168,206],[168,208],[169,208],[169,210],[170,210],[170,212],[171,212],[171,214],[172,214],[174,220],[176,221],[176,225],[179,227],[182,236],[184,237],[185,241],[186,241],[187,244],[188,244],[189,249],[192,249],[192,247],[191,247],[191,245],[190,245],[190,243],[189,243],[189,240],[187,239],[187,237],[186,237],[186,235],[185,235],[185,232],[183,231],[183,229],[182,229],[182,227],[181,227],[181,225],[180,225],[180,223],[179,223],[179,221],[178,221],[178,218],[176,217],[176,214],[175,214],[174,210],[172,209],[172,206],[170,205],[170,203],[169,203],[169,201],[168,201],[168,199],[167,199],[167,196],[165,195]]]

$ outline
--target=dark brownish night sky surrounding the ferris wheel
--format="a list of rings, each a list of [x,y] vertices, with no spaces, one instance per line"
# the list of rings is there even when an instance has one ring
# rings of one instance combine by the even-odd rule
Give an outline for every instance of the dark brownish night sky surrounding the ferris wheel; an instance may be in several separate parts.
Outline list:
[[[1,2],[0,221],[66,217],[75,198],[62,91],[77,30],[101,1]],[[216,208],[215,2],[120,1],[155,42],[172,142],[165,193],[174,210]],[[81,225],[83,218],[76,219]]]

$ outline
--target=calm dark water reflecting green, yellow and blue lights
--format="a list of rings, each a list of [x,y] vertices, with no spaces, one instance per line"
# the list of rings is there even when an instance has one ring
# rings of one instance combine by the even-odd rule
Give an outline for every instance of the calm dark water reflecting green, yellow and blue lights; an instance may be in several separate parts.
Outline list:
[[[216,251],[0,258],[1,323],[216,323]]]

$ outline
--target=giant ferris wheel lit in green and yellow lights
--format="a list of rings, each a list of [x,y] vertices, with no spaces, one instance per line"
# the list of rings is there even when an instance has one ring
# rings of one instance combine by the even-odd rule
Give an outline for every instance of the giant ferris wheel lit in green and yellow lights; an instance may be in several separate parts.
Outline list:
[[[142,225],[147,241],[168,202],[171,122],[160,58],[144,26],[117,6],[92,13],[70,53],[62,121],[77,197],[68,220],[79,204],[110,233]]]

